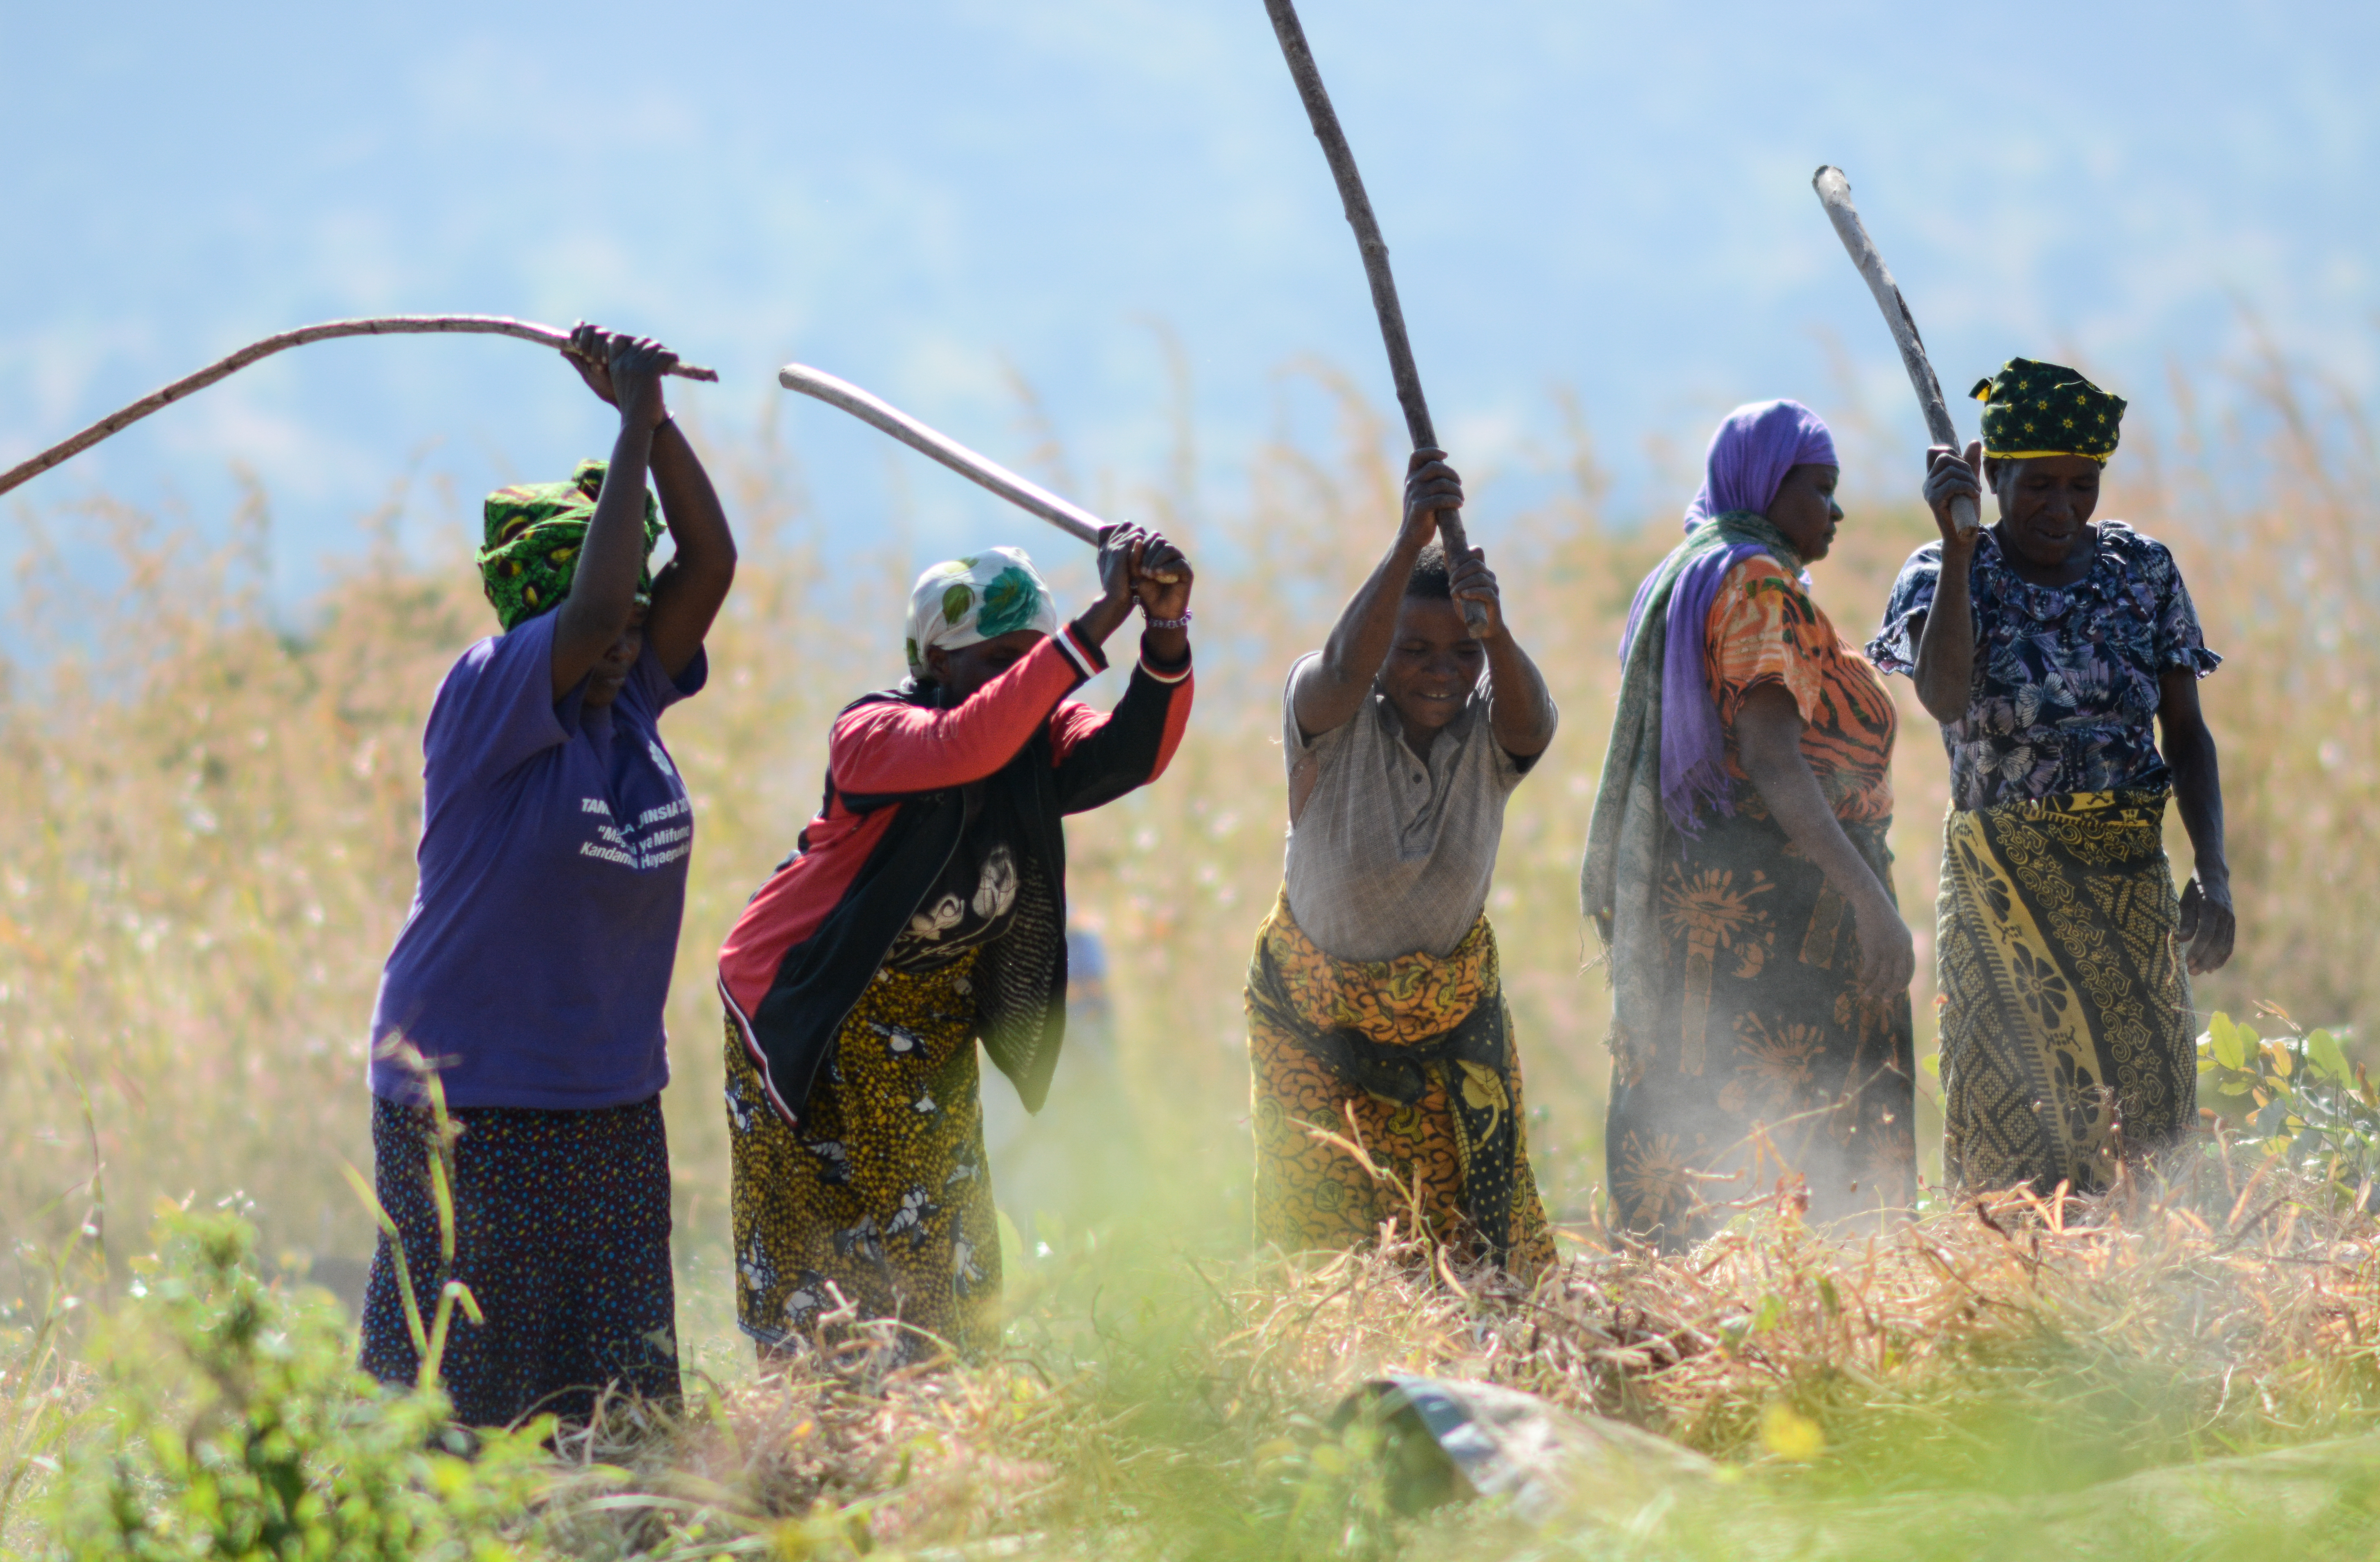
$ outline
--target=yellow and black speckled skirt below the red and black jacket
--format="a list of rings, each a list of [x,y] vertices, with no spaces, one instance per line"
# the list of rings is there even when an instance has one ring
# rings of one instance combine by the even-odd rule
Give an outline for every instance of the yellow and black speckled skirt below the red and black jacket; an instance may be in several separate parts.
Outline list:
[[[902,1355],[1000,1336],[1000,1226],[983,1160],[973,955],[878,971],[785,1126],[728,1021],[735,1314],[790,1350],[821,1319],[900,1319]]]

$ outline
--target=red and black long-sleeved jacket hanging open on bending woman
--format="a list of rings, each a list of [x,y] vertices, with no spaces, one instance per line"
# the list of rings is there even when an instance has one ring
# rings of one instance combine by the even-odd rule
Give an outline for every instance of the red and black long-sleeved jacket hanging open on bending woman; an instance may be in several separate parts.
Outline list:
[[[1066,698],[1104,667],[1069,624],[954,707],[940,686],[909,681],[835,717],[819,817],[719,950],[719,993],[788,1124],[959,850],[971,802],[997,810],[1019,848],[1014,921],[971,974],[978,1036],[1040,1110],[1066,1036],[1061,819],[1161,776],[1190,724],[1188,662],[1142,660],[1109,714]]]

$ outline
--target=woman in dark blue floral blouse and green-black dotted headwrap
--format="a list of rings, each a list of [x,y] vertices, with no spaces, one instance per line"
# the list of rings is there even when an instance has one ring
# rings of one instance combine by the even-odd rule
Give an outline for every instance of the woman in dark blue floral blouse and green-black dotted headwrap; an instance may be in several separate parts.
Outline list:
[[[2232,950],[2206,650],[2163,543],[2092,524],[2123,400],[2023,357],[1975,386],[1983,443],[1925,455],[1942,529],[1868,655],[1942,724],[1942,1164],[1959,1188],[2104,1188],[2197,1126],[2190,976]],[[1952,502],[1992,491],[1973,536]],[[2156,748],[2156,726],[2166,748]],[[2194,874],[2175,900],[2166,798]],[[2187,967],[2187,969],[2185,969]]]

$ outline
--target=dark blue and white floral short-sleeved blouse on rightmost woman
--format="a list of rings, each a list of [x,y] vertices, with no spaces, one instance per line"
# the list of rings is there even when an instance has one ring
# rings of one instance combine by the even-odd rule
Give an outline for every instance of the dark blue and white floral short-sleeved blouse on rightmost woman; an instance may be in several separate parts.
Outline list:
[[[2021,579],[1992,531],[1975,545],[1975,686],[1966,714],[1942,726],[1952,807],[2171,786],[2156,681],[2178,667],[2204,679],[2223,657],[2206,650],[2163,543],[2123,521],[2094,531],[2099,557],[2073,586]],[[1940,579],[1940,541],[1909,555],[1868,641],[1880,669],[1916,674],[1911,621],[1933,607]]]

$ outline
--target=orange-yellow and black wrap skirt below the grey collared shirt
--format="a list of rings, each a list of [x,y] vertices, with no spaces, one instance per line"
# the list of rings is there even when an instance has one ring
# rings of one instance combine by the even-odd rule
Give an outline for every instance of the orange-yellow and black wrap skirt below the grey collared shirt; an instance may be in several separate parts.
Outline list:
[[[1257,933],[1247,1062],[1259,1243],[1357,1248],[1390,1219],[1409,1231],[1418,1202],[1428,1236],[1466,1260],[1523,1279],[1554,1262],[1488,917],[1445,960],[1335,960],[1283,895]],[[1307,1126],[1361,1143],[1395,1186]]]

